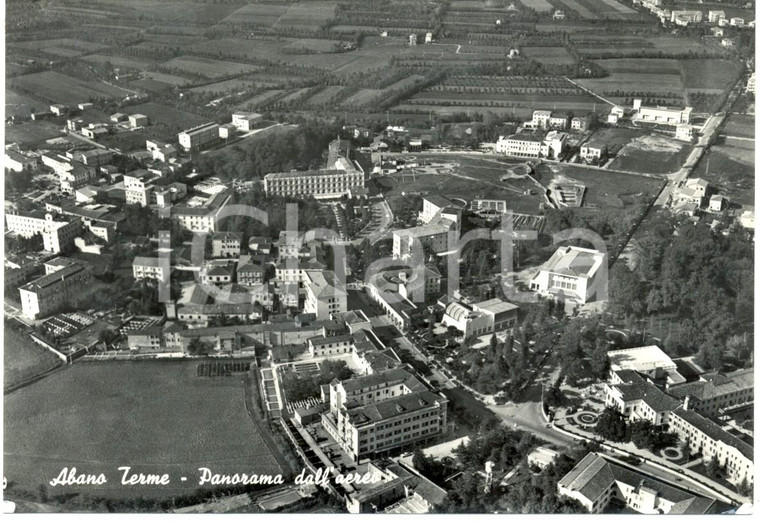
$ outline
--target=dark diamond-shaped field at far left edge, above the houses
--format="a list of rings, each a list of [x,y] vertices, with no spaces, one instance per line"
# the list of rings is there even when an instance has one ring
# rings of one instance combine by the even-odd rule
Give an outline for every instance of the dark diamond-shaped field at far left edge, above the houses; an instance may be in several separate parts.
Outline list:
[[[91,99],[123,97],[126,92],[105,83],[79,80],[55,71],[38,72],[11,78],[11,88],[33,92],[51,103],[76,104]]]

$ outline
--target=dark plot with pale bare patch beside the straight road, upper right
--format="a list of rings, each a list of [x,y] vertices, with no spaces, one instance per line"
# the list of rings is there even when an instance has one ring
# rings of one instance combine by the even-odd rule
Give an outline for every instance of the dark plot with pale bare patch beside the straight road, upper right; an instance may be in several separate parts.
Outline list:
[[[609,164],[611,170],[670,174],[681,168],[692,147],[675,139],[648,135],[624,146]]]

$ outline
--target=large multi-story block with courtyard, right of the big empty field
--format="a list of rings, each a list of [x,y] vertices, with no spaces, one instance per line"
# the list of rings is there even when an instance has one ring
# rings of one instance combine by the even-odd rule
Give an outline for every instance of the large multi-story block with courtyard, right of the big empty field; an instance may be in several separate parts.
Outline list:
[[[354,461],[446,432],[448,400],[400,368],[334,381],[329,403],[322,425]]]

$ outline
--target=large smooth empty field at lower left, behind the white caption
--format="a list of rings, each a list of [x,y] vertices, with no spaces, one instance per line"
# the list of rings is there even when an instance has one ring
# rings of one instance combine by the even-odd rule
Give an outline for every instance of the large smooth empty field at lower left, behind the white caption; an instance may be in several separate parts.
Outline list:
[[[5,397],[5,476],[37,492],[63,467],[104,473],[99,486],[51,494],[167,497],[217,473],[282,472],[248,416],[239,377],[201,378],[197,362],[80,362]],[[121,486],[120,466],[168,473],[165,487]],[[186,482],[180,478],[187,477]]]

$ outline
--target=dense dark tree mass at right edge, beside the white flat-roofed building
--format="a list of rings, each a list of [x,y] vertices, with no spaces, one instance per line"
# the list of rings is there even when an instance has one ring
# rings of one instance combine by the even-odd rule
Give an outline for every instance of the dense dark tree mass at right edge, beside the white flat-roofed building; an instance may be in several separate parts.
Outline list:
[[[729,357],[741,365],[751,352],[753,248],[748,233],[727,222],[713,231],[661,212],[636,240],[636,269],[618,262],[609,277],[610,311],[618,319],[662,318],[664,349],[696,352],[706,369],[720,369]]]

